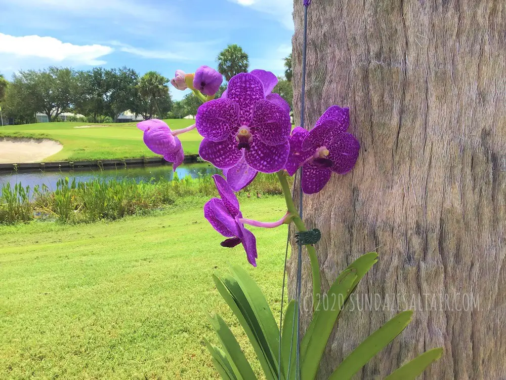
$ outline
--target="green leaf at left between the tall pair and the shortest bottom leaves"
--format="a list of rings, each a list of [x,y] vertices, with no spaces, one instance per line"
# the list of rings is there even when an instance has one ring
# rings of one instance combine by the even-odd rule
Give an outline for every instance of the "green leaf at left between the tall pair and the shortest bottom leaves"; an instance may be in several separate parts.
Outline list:
[[[255,372],[251,369],[246,356],[241,350],[239,343],[230,331],[230,328],[227,326],[225,321],[219,315],[215,315],[214,317],[207,314],[207,319],[211,326],[215,329],[218,339],[220,339],[220,343],[222,344],[223,350],[225,352],[225,356],[229,359],[230,366],[234,371],[234,374],[237,376],[238,380],[257,380],[257,376]]]

